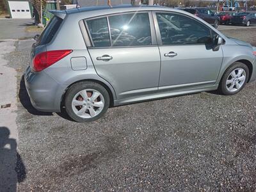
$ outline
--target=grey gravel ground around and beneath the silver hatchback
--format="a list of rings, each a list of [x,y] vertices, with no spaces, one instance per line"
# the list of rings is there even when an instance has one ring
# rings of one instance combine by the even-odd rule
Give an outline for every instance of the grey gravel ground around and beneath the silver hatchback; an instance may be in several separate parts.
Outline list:
[[[225,30],[256,45],[256,29]],[[243,33],[243,35],[241,35]],[[16,44],[20,191],[255,191],[256,83],[234,96],[198,93],[120,106],[89,124],[31,107]]]

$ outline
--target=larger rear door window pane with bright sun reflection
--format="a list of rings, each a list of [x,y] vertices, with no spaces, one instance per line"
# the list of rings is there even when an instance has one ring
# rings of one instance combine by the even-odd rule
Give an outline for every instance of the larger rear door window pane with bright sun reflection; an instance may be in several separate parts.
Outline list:
[[[109,16],[109,26],[113,47],[152,44],[148,13]]]

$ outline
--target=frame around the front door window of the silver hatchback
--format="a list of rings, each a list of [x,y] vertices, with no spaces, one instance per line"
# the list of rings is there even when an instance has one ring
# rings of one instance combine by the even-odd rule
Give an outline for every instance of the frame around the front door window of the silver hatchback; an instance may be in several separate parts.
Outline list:
[[[156,17],[156,13],[169,13],[169,14],[175,14],[175,15],[182,15],[184,17],[188,17],[189,19],[193,19],[195,20],[196,22],[198,22],[199,24],[202,24],[203,26],[205,26],[206,28],[209,29],[209,32],[210,32],[210,35],[211,35],[211,38],[212,38],[212,32],[214,33],[217,33],[216,31],[212,30],[211,28],[209,28],[209,26],[205,25],[203,22],[200,22],[198,20],[196,20],[195,18],[189,16],[189,15],[186,15],[184,13],[179,13],[179,12],[169,12],[169,11],[153,11],[152,14],[153,14],[153,19],[154,19],[154,26],[155,26],[155,29],[156,29],[156,38],[157,38],[157,44],[158,46],[188,46],[188,45],[205,45],[205,44],[177,44],[177,45],[163,45],[163,42],[162,42],[162,38],[161,38],[161,33],[160,33],[160,29],[159,29],[159,26],[158,26],[158,22],[157,22],[157,17]],[[217,33],[218,35],[220,35],[219,33]],[[220,35],[221,36],[221,35]],[[221,36],[222,37],[222,36]],[[223,38],[224,39],[224,38]]]

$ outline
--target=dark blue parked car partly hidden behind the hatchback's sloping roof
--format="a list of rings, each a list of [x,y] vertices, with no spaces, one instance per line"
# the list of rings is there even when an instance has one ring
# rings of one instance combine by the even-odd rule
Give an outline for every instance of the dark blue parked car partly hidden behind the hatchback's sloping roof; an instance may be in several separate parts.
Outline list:
[[[192,13],[197,17],[200,17],[201,19],[214,26],[214,28],[218,28],[220,24],[220,18],[218,17],[218,15],[216,15],[208,8],[184,8],[183,10]]]

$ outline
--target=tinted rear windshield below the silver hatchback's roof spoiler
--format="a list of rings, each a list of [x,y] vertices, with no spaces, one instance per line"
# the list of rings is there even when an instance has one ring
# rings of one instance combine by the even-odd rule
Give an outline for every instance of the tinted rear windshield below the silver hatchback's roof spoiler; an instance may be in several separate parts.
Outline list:
[[[51,42],[52,38],[60,28],[62,20],[63,19],[60,19],[60,17],[56,17],[56,16],[51,19],[49,24],[47,24],[44,31],[39,36],[38,45],[44,45]]]

